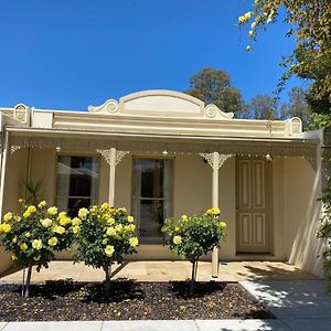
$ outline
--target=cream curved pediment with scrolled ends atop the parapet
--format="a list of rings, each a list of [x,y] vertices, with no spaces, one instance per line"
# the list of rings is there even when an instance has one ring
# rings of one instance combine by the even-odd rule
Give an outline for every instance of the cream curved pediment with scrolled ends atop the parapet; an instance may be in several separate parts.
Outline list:
[[[188,94],[151,89],[129,94],[117,103],[109,99],[102,106],[89,106],[90,113],[118,114],[131,116],[215,118],[231,119],[233,113],[224,113],[215,105],[207,105]]]

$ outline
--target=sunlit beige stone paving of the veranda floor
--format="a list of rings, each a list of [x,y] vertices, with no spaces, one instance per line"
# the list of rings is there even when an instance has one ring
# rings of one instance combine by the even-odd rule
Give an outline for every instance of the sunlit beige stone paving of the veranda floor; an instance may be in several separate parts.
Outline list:
[[[116,268],[116,266],[115,266]],[[130,261],[116,278],[129,278],[137,281],[173,281],[185,280],[191,277],[192,266],[188,261],[158,260],[158,261]],[[49,269],[33,270],[32,282],[58,280],[71,278],[76,281],[102,281],[105,274],[102,269],[93,269],[84,264],[57,260],[50,264]],[[221,263],[218,278],[212,278],[212,264],[200,261],[197,268],[199,281],[239,281],[239,280],[273,280],[273,279],[318,279],[317,276],[305,273],[299,268],[281,261],[229,261]],[[0,278],[0,284],[20,284],[22,270]]]

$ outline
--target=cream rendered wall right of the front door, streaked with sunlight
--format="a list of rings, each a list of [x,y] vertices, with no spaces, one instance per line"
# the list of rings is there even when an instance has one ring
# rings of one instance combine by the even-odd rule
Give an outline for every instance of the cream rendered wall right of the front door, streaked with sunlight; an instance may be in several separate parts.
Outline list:
[[[303,159],[285,161],[285,235],[287,258],[291,264],[322,276],[321,241],[317,238],[320,220],[321,173]]]

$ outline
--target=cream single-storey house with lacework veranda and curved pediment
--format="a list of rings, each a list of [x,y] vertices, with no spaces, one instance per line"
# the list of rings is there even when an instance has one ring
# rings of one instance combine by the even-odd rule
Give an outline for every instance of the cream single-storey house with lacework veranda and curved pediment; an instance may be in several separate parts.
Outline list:
[[[164,218],[220,206],[218,260],[289,260],[321,274],[316,229],[324,131],[301,120],[234,119],[182,93],[145,90],[88,111],[0,108],[0,211],[18,210],[23,182],[74,214],[108,201],[135,216],[137,259],[170,259]],[[0,271],[10,266],[1,253]],[[2,269],[2,270],[1,270]]]

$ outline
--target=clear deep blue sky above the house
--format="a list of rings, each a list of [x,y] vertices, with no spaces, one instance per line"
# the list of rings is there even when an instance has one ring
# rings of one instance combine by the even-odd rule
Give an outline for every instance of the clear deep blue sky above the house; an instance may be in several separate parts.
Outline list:
[[[226,71],[246,102],[271,94],[292,41],[277,23],[246,52],[236,23],[252,2],[0,0],[0,106],[85,110],[142,89],[185,90],[205,66]]]

